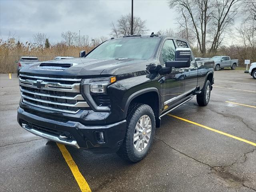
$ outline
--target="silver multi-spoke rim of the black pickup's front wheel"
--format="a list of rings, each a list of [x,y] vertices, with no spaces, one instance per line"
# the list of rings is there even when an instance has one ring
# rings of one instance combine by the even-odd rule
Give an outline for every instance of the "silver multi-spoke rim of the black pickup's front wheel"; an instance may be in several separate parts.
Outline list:
[[[133,136],[133,144],[136,151],[143,151],[149,143],[151,136],[152,124],[150,117],[143,115],[138,120]]]

